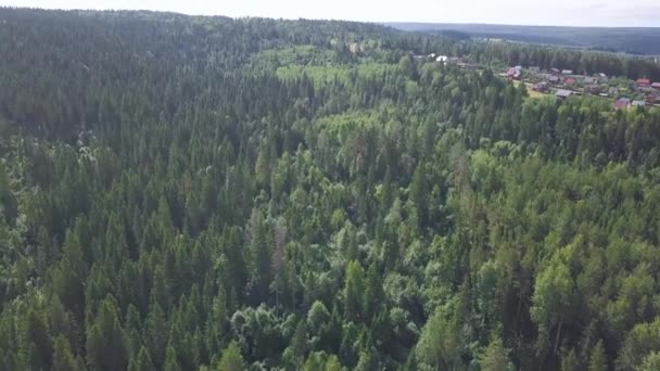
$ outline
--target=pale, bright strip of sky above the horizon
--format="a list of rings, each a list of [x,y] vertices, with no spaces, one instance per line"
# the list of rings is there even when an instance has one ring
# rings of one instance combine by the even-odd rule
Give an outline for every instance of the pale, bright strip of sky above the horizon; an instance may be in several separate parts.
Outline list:
[[[0,5],[147,9],[234,17],[660,27],[660,0],[0,0]]]

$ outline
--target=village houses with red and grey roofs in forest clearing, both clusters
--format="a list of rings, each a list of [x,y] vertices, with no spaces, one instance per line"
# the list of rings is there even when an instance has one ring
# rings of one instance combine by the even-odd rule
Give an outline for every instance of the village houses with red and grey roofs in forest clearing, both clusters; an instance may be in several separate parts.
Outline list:
[[[432,53],[427,57],[462,69],[483,67],[455,56]],[[604,73],[586,76],[571,69],[543,69],[535,66],[511,66],[499,76],[515,84],[524,84],[530,93],[536,97],[554,94],[559,99],[568,99],[572,95],[594,95],[612,100],[612,106],[617,110],[660,107],[660,81],[650,81],[647,78],[633,81],[623,77],[607,76]]]

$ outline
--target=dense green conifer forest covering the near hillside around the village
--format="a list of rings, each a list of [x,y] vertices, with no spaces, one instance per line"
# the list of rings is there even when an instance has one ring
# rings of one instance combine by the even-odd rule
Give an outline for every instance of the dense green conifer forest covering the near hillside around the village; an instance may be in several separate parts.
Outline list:
[[[660,369],[660,112],[414,57],[528,50],[0,9],[0,370]]]

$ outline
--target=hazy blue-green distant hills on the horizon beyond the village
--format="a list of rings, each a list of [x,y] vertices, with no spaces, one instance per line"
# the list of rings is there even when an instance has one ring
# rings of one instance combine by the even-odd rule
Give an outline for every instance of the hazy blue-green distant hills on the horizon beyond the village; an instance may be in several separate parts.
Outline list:
[[[492,38],[631,54],[660,55],[660,27],[606,28],[448,23],[388,23],[386,25],[408,31],[443,34],[457,38]]]

